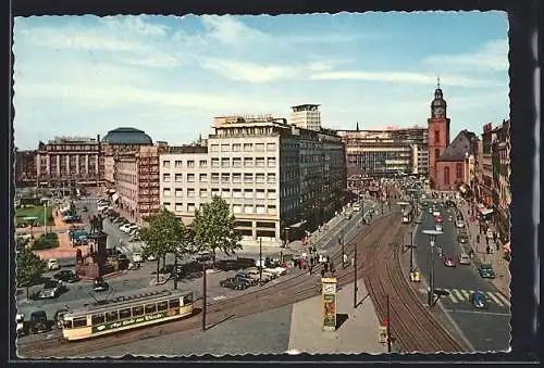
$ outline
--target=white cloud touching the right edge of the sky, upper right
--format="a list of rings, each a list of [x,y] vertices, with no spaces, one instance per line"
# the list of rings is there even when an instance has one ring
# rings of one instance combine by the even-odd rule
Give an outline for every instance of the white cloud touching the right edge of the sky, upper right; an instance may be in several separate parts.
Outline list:
[[[493,40],[479,51],[453,55],[433,55],[425,62],[437,67],[504,72],[508,69],[508,40]]]

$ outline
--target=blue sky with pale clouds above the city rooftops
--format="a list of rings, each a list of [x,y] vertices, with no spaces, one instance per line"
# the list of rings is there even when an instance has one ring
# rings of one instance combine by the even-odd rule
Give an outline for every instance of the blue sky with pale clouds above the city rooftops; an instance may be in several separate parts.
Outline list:
[[[504,12],[33,16],[13,30],[20,149],[135,127],[189,143],[214,116],[320,104],[322,126],[426,126],[440,75],[478,135],[509,116]]]

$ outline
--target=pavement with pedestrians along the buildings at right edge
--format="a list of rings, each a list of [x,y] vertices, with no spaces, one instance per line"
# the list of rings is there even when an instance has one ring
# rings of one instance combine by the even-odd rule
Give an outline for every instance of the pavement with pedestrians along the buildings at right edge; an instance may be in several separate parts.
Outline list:
[[[479,234],[479,226],[477,221],[470,221],[470,217],[468,215],[468,206],[470,204],[461,205],[460,213],[463,217],[465,224],[469,233],[469,242],[462,244],[465,249],[472,248],[474,251],[474,265],[478,267],[482,263],[489,263],[493,266],[495,271],[495,278],[491,280],[491,282],[503,294],[507,297],[510,297],[510,280],[511,275],[509,270],[509,263],[503,257],[503,250],[498,251],[492,245],[493,253],[487,254],[485,252],[485,234],[480,234],[480,243],[477,243],[477,236]],[[493,225],[490,226],[494,231]]]

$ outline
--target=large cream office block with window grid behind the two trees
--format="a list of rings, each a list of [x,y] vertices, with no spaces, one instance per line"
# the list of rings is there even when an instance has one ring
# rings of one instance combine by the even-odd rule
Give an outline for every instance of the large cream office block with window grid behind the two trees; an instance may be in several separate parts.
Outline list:
[[[271,116],[214,119],[206,147],[160,156],[161,203],[190,221],[222,196],[245,241],[281,244],[284,229],[316,227],[343,205],[342,140]]]

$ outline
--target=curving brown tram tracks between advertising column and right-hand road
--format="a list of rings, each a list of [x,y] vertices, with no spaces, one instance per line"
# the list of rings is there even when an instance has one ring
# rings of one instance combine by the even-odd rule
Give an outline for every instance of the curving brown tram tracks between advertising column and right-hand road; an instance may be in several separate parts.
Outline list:
[[[391,254],[381,259],[374,256],[371,265],[375,269],[364,276],[364,283],[376,312],[382,319],[387,317],[388,296],[391,334],[405,352],[462,352],[462,345],[436,321],[409,287],[398,254],[404,234],[405,229],[400,228],[387,237]]]

